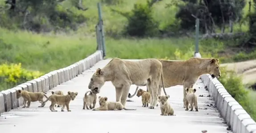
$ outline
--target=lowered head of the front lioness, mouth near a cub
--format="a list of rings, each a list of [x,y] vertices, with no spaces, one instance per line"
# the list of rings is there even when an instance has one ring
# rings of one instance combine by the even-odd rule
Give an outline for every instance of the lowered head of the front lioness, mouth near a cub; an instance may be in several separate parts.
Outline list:
[[[97,71],[91,77],[88,89],[92,90],[92,92],[95,94],[100,93],[100,88],[105,83],[103,74],[103,71],[100,68],[98,68]]]

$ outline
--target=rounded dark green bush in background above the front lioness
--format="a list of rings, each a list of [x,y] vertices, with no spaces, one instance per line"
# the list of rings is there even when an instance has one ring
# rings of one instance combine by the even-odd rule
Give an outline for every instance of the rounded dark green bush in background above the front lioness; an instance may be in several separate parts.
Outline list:
[[[128,16],[126,33],[130,36],[153,36],[158,33],[158,23],[152,17],[150,2],[147,4],[136,3]]]

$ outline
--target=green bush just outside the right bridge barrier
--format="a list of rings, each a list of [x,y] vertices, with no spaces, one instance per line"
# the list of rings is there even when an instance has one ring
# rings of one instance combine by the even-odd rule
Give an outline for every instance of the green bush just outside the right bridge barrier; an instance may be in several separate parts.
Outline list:
[[[220,69],[222,76],[218,80],[223,84],[228,93],[245,109],[245,111],[256,120],[255,96],[251,95],[252,93],[250,90],[246,89],[242,84],[242,77],[237,76],[234,71],[226,71],[225,68]]]

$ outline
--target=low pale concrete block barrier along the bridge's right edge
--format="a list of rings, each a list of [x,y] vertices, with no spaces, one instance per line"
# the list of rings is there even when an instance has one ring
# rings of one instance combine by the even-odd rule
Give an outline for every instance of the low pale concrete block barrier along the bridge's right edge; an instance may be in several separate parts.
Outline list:
[[[242,106],[227,92],[216,78],[204,74],[200,76],[204,86],[209,90],[220,115],[231,126],[233,133],[256,133],[256,122],[242,108]]]

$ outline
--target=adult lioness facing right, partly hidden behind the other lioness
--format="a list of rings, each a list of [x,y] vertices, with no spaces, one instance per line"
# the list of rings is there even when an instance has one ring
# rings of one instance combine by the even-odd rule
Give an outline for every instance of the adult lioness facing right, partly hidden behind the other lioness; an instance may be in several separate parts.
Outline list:
[[[199,76],[211,74],[211,77],[221,76],[219,59],[214,58],[195,58],[189,60],[159,60],[163,65],[164,87],[183,85],[183,106],[185,108],[186,88],[192,88]],[[161,84],[159,85],[158,95],[161,95]],[[136,92],[135,92],[136,93]],[[131,94],[130,94],[131,95]]]

